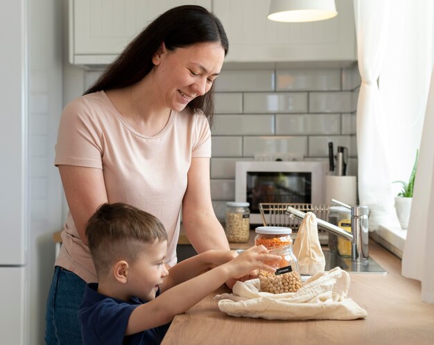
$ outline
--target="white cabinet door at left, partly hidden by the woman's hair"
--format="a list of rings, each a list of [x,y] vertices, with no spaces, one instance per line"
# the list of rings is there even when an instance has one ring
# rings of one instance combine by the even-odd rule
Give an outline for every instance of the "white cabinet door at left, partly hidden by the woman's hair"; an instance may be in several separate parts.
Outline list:
[[[69,62],[112,62],[150,21],[186,3],[211,9],[211,0],[69,0]]]

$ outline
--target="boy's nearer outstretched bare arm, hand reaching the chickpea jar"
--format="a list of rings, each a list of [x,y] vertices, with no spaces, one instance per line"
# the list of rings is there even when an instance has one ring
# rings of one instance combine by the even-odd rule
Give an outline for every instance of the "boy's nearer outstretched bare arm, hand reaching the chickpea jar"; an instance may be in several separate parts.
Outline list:
[[[153,301],[137,307],[130,316],[125,335],[167,324],[175,315],[189,310],[229,278],[239,278],[254,269],[275,272],[266,262],[280,260],[281,257],[264,253],[266,248],[262,245],[252,247],[234,260],[175,285]]]

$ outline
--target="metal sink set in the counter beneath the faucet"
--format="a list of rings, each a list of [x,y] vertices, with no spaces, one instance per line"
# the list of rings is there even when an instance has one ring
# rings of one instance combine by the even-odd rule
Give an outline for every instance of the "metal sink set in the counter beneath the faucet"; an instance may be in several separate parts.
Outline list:
[[[388,274],[388,272],[371,257],[365,260],[351,261],[349,256],[340,256],[333,251],[324,250],[323,253],[326,260],[325,271],[329,271],[338,266],[344,271],[351,273]]]

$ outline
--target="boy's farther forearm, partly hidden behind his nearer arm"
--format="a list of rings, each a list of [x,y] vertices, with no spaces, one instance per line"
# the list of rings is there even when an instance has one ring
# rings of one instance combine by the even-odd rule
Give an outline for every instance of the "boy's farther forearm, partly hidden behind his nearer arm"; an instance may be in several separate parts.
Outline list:
[[[236,251],[209,250],[177,263],[168,270],[168,276],[159,285],[160,292],[164,292],[173,286],[188,281],[209,269],[227,263],[238,256]]]

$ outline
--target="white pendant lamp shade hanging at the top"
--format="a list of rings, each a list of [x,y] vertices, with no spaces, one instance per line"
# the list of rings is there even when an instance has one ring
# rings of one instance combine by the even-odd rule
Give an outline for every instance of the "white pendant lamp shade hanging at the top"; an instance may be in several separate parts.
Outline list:
[[[334,0],[270,0],[268,19],[273,21],[318,21],[336,17]]]

